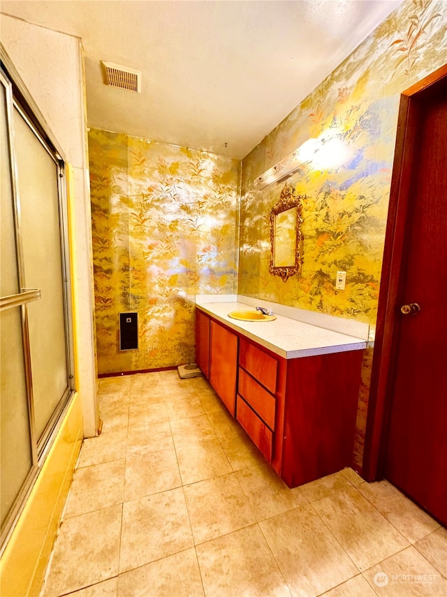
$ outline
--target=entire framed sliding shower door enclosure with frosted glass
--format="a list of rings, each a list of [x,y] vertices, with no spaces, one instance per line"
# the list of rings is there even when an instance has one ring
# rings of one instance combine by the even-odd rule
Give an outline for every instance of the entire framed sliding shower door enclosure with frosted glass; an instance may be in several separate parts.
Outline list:
[[[1,555],[74,386],[65,164],[0,50]]]

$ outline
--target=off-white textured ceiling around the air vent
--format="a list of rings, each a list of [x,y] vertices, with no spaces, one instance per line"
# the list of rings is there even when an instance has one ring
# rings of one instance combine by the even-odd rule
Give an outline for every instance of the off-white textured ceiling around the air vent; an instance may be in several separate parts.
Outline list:
[[[241,158],[400,1],[2,0],[1,11],[82,38],[89,126]],[[142,93],[103,85],[101,60],[142,71]]]

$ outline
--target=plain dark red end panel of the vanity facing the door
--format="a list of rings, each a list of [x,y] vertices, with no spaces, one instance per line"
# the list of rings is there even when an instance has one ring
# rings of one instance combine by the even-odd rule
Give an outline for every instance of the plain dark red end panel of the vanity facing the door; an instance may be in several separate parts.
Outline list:
[[[288,363],[281,477],[289,487],[351,466],[361,364],[362,351]]]

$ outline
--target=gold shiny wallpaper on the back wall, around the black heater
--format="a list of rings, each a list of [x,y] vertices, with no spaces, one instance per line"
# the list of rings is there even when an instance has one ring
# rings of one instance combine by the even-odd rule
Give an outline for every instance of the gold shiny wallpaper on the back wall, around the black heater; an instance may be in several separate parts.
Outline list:
[[[237,292],[240,162],[91,129],[89,166],[98,373],[192,362],[194,295]]]

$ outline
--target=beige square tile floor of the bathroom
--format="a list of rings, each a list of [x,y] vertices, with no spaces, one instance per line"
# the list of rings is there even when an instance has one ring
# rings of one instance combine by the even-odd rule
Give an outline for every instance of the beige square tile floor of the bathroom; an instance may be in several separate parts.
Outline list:
[[[204,378],[99,386],[45,597],[447,596],[447,531],[388,482],[288,489]]]

